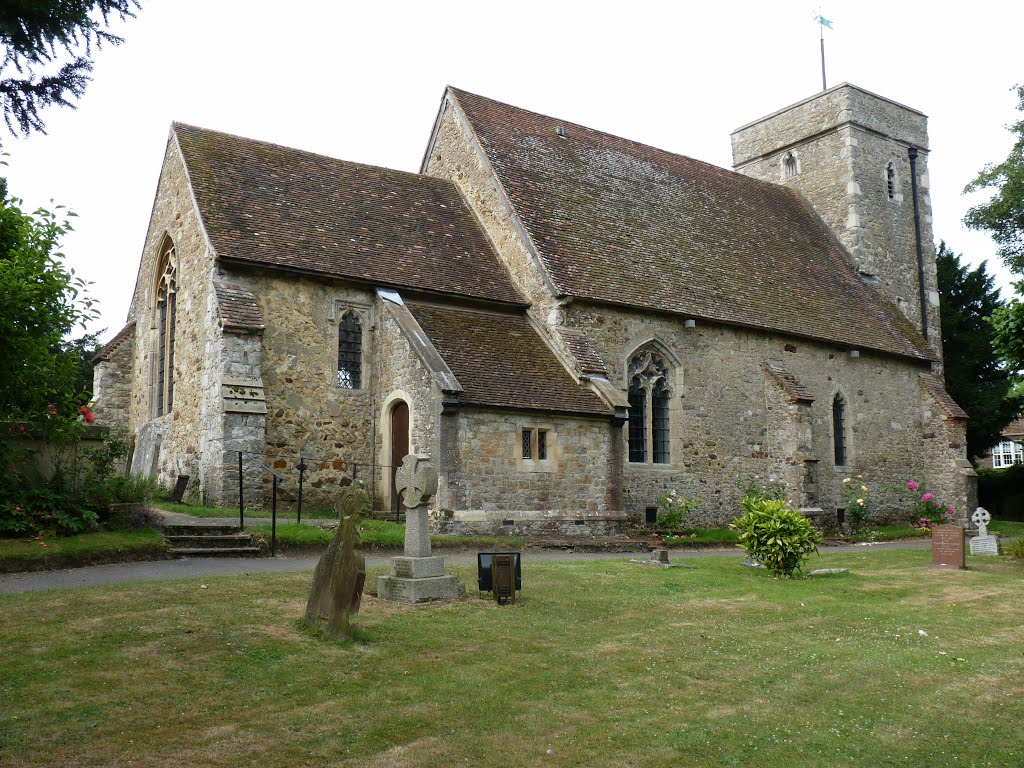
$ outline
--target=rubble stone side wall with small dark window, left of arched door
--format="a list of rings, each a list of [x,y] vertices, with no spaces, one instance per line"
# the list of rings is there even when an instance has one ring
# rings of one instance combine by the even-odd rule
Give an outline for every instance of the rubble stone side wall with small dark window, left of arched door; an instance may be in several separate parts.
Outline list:
[[[267,409],[263,461],[282,478],[279,504],[294,506],[304,457],[303,506],[331,507],[352,472],[365,477],[373,460],[374,294],[287,272],[221,271],[225,280],[256,296],[266,327],[262,338],[225,336],[223,360],[225,376],[251,376],[254,366],[260,375]],[[350,310],[362,327],[359,389],[337,383],[338,325]],[[224,453],[229,455],[227,438],[232,433],[243,439],[258,427],[253,415],[228,413],[225,418]],[[272,476],[261,474],[262,503],[267,507]]]

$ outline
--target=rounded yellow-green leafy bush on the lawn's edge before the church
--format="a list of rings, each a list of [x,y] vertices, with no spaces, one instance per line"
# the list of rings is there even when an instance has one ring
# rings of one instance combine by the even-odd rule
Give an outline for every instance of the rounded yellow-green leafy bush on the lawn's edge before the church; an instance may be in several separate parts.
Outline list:
[[[748,556],[775,575],[793,575],[812,552],[818,551],[821,534],[809,518],[777,499],[744,497],[746,514],[729,527],[739,531],[739,546]]]

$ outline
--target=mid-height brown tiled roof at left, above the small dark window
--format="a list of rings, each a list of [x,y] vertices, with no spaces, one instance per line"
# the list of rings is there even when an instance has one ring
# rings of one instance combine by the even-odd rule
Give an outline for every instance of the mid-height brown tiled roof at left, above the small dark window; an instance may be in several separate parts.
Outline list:
[[[454,183],[174,124],[220,257],[521,304]]]

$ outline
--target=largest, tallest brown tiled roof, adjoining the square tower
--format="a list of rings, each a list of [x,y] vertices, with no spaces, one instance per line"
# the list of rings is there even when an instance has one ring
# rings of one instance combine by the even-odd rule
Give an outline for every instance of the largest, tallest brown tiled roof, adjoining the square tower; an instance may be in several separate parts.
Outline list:
[[[797,193],[449,93],[559,293],[931,358]]]

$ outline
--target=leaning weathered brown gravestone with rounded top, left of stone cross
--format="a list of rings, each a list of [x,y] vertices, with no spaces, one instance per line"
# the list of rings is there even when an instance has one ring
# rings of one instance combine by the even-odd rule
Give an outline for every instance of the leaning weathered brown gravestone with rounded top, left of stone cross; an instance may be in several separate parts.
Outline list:
[[[306,621],[332,637],[352,637],[352,617],[359,612],[367,561],[359,522],[370,513],[370,495],[361,482],[341,492],[338,529],[316,563],[306,603]]]

